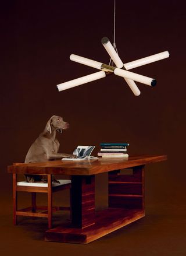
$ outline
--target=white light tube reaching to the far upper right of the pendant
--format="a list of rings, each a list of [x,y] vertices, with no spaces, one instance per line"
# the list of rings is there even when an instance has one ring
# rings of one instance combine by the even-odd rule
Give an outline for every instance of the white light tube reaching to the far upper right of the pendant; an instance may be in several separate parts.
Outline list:
[[[169,58],[169,51],[163,51],[158,54],[154,54],[142,59],[137,59],[136,61],[127,62],[124,65],[124,68],[129,70],[132,68],[137,68],[137,66],[143,66],[155,61],[160,61],[160,59]]]

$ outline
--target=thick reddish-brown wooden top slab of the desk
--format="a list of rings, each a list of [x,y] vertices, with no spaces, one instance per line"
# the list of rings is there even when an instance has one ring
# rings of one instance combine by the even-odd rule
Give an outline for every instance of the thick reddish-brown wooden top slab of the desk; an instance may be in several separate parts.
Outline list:
[[[8,166],[8,173],[92,175],[149,163],[162,162],[164,160],[167,160],[166,155],[130,156],[128,159],[122,157],[99,157],[99,159],[78,162],[73,160],[56,160],[42,163],[13,164],[12,166]]]

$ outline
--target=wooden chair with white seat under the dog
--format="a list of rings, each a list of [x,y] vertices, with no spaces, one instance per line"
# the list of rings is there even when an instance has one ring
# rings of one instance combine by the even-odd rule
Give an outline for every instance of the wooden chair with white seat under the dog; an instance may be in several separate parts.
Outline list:
[[[20,163],[15,163],[16,165]],[[52,175],[46,174],[48,183],[27,183],[26,181],[17,182],[17,174],[13,173],[13,224],[17,225],[17,216],[31,216],[48,218],[48,228],[52,228],[52,212],[67,211],[70,207],[52,207],[52,194],[56,191],[71,190],[70,180],[59,180],[60,184],[52,183]],[[17,192],[31,192],[31,206],[24,209],[17,209]],[[48,206],[36,205],[36,193],[47,193]]]

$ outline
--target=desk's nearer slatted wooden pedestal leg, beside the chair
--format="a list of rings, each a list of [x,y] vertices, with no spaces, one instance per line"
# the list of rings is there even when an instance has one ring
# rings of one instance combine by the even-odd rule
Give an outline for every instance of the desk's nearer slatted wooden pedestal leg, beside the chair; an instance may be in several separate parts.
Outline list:
[[[71,177],[71,223],[85,228],[95,224],[95,177]]]

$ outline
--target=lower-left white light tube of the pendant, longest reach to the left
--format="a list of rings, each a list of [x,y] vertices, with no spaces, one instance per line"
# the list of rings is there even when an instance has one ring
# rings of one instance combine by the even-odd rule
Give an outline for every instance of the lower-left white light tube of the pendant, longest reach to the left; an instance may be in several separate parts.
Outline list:
[[[97,79],[105,78],[106,73],[104,71],[99,71],[96,73],[92,73],[91,75],[82,76],[81,78],[77,78],[74,80],[70,80],[65,83],[60,83],[59,85],[56,85],[58,91],[67,90],[72,87],[83,85],[84,83],[88,83]]]

